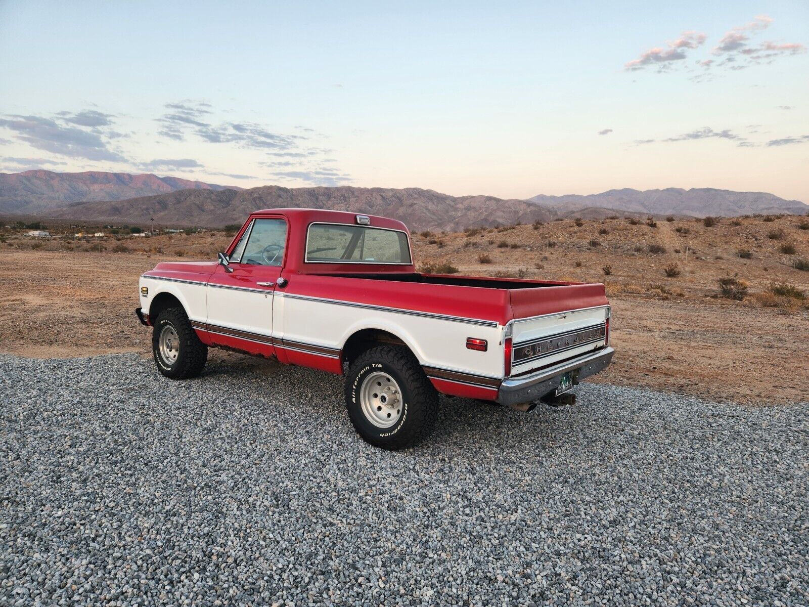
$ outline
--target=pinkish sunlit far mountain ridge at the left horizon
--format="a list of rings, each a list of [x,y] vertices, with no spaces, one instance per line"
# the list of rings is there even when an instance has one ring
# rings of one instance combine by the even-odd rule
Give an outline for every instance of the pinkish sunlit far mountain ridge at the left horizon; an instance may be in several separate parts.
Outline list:
[[[179,189],[222,190],[227,187],[150,174],[129,175],[100,171],[0,173],[0,212],[36,214],[71,202],[125,200]]]

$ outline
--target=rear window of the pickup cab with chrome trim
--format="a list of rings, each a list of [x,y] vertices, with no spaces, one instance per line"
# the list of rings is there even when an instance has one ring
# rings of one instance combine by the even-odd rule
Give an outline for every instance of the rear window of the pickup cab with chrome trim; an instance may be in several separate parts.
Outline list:
[[[403,231],[312,223],[307,236],[306,261],[410,264],[410,244]]]

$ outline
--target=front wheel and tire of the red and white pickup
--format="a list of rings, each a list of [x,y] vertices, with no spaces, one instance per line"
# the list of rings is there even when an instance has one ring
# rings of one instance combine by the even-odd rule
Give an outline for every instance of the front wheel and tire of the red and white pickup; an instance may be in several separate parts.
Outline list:
[[[152,354],[164,376],[187,380],[202,372],[208,346],[197,337],[183,308],[167,308],[159,313],[152,329]]]

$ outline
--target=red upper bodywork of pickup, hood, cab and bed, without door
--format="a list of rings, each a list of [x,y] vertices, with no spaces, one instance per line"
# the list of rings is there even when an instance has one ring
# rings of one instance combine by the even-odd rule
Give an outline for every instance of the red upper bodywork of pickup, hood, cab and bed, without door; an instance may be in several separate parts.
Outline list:
[[[311,223],[357,224],[357,214],[335,210],[265,209],[251,214],[227,248],[230,255],[252,219],[281,218],[287,223],[286,254],[280,275],[289,282],[285,291],[324,299],[383,305],[432,314],[493,320],[505,325],[527,318],[577,308],[608,304],[603,284],[477,278],[430,277],[425,281],[374,280],[369,274],[416,273],[411,264],[311,263],[304,261],[307,230]],[[409,231],[395,219],[366,215],[370,227]],[[412,247],[411,247],[412,251]],[[147,275],[192,282],[209,282],[216,261],[163,262]],[[362,274],[357,278],[346,274]],[[432,280],[429,280],[429,279]]]

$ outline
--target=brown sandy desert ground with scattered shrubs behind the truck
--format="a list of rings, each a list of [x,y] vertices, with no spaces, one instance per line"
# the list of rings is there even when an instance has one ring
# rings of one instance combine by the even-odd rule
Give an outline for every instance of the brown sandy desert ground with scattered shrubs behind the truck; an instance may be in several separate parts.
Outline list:
[[[77,238],[67,224],[48,225],[55,236],[44,240],[6,224],[0,353],[38,358],[148,356],[149,329],[133,314],[138,276],[160,261],[213,259],[231,240],[224,230]],[[595,382],[745,405],[809,401],[809,218],[564,220],[422,232],[413,244],[426,271],[604,282],[616,356]],[[722,278],[739,299],[722,295]]]

